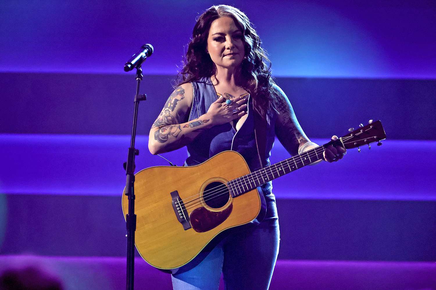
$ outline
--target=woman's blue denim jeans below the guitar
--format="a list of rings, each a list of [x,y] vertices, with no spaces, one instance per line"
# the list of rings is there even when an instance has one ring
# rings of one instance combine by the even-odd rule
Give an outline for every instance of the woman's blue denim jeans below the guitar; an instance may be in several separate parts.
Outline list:
[[[172,274],[174,290],[267,290],[279,253],[276,199],[265,196],[266,217],[220,233],[191,262]]]

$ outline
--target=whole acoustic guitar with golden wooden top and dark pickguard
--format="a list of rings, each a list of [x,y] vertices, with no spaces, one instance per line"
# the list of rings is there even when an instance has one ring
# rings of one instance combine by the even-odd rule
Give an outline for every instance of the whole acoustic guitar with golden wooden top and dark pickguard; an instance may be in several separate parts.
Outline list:
[[[330,144],[346,149],[386,138],[380,121],[335,141],[250,172],[244,158],[225,151],[196,166],[156,166],[135,174],[136,249],[153,267],[174,269],[191,261],[222,231],[261,220],[265,201],[259,188],[323,158]],[[360,148],[359,148],[360,151]],[[123,194],[123,213],[128,212]]]

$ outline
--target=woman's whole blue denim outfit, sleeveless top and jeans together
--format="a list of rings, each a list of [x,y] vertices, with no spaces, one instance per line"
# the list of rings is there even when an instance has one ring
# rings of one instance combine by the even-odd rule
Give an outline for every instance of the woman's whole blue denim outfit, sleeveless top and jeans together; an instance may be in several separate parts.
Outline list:
[[[194,98],[189,120],[207,112],[217,100],[217,93],[210,78],[192,83]],[[247,161],[251,171],[262,168],[259,164],[254,134],[252,98],[248,100],[247,119],[235,131],[230,123],[214,126],[200,133],[187,145],[186,166],[203,163],[225,150],[237,151]],[[260,152],[262,163],[269,166],[269,156],[274,144],[276,115],[267,115],[269,120],[266,136],[266,152]],[[226,290],[268,289],[272,271],[279,251],[279,221],[276,200],[271,193],[272,183],[261,187],[266,200],[266,217],[258,225],[248,223],[225,230],[215,237],[189,263],[173,270],[174,290],[216,290],[221,272]]]

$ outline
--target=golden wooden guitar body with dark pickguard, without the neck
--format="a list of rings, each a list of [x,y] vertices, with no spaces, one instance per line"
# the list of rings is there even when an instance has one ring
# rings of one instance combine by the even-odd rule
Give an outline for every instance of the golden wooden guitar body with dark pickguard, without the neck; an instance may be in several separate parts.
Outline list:
[[[135,245],[141,257],[160,269],[181,267],[218,233],[255,220],[265,209],[262,193],[254,189],[232,197],[225,186],[248,173],[247,163],[235,151],[219,153],[197,166],[157,166],[136,173]],[[217,188],[222,198],[210,203],[207,193]],[[180,221],[181,213],[173,207],[175,191],[186,208],[181,213],[189,216],[185,225]],[[128,199],[124,194],[122,203],[126,217]]]

